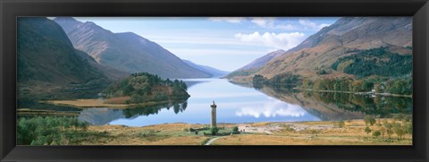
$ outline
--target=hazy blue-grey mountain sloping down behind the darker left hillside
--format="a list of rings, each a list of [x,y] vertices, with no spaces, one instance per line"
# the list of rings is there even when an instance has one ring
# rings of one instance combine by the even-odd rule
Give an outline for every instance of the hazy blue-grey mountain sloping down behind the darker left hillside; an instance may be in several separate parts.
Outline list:
[[[63,27],[74,47],[91,55],[99,64],[125,72],[149,72],[163,78],[211,77],[135,33],[114,33],[94,22],[67,17],[58,17],[54,21]]]

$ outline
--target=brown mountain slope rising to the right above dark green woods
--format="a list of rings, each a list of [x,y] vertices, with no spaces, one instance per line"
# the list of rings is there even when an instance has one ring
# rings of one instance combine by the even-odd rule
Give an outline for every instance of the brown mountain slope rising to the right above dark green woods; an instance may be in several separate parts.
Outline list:
[[[341,57],[366,54],[366,50],[378,47],[385,47],[386,55],[411,55],[412,18],[341,18],[308,37],[297,47],[274,58],[257,72],[248,74],[247,79],[254,74],[261,74],[269,79],[283,72],[297,73],[308,79],[355,77],[341,70],[333,70],[332,64]],[[381,55],[374,59],[383,60],[384,57]],[[352,62],[343,65],[350,64]]]

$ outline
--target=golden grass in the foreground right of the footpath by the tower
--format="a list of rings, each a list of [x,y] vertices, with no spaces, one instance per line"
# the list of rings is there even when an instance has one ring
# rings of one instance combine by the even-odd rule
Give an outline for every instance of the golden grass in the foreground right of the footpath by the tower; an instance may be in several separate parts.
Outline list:
[[[382,119],[392,121],[391,119]],[[398,121],[397,121],[398,122]],[[295,124],[306,125],[335,125],[338,122],[297,122]],[[363,120],[344,122],[344,128],[307,129],[294,131],[283,125],[282,131],[273,132],[273,135],[265,134],[238,134],[214,141],[213,145],[411,145],[412,135],[407,134],[399,140],[396,135],[391,138],[374,138],[371,133],[366,134],[366,124]],[[275,123],[273,123],[275,124]],[[377,130],[377,125],[369,126]]]

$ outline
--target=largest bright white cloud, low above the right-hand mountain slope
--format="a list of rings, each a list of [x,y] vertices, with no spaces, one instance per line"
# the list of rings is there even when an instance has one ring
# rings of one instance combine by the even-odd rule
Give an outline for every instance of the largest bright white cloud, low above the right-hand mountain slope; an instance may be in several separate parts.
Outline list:
[[[265,32],[264,34],[260,34],[255,31],[251,34],[235,34],[235,38],[239,38],[244,42],[257,42],[263,43],[266,47],[275,47],[283,50],[288,50],[292,47],[296,47],[299,45],[306,35],[302,32],[290,32],[290,33],[269,33]]]

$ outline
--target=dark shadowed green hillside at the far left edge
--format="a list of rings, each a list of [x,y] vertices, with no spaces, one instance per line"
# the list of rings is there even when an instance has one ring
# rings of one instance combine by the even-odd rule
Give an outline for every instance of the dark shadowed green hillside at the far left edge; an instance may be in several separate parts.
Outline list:
[[[19,98],[90,97],[110,82],[55,21],[20,17],[17,39]]]

